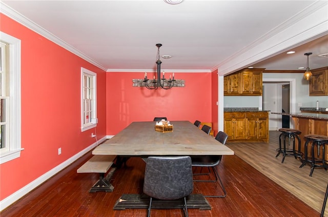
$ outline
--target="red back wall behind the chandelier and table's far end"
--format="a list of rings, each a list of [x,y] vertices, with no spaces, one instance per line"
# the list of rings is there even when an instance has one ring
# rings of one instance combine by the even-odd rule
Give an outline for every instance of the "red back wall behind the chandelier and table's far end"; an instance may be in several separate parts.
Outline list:
[[[153,121],[166,116],[169,121],[211,122],[211,73],[175,73],[185,87],[148,90],[132,87],[133,78],[144,73],[107,73],[107,135],[115,135],[134,121]],[[152,77],[151,73],[148,73]]]

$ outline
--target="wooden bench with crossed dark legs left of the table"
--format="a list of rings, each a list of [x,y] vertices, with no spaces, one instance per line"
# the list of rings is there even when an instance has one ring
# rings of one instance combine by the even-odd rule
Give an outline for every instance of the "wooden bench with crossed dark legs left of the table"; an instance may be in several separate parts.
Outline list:
[[[116,155],[94,155],[89,161],[77,169],[78,173],[97,172],[99,173],[99,181],[97,181],[89,192],[106,191],[112,192],[114,186],[109,183],[116,167],[113,167],[106,177],[105,174],[113,165]]]

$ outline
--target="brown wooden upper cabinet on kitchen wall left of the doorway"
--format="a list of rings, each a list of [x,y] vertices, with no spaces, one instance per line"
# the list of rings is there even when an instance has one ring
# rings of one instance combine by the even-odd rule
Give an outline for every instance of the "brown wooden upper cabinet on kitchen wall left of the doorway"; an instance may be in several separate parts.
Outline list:
[[[261,96],[262,72],[264,69],[242,69],[224,76],[225,96]]]

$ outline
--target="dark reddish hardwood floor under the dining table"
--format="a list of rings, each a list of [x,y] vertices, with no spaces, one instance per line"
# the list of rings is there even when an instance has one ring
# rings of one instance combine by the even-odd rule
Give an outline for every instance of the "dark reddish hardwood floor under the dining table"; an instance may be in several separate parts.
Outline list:
[[[113,192],[89,193],[98,174],[76,173],[91,152],[2,211],[9,216],[146,216],[147,209],[113,210],[124,193],[142,193],[145,163],[132,157],[115,171]],[[223,157],[218,166],[226,198],[207,198],[211,210],[189,209],[189,216],[320,216],[320,213],[237,155]],[[193,193],[221,192],[218,183],[194,183]],[[183,216],[180,209],[153,209],[151,216]]]

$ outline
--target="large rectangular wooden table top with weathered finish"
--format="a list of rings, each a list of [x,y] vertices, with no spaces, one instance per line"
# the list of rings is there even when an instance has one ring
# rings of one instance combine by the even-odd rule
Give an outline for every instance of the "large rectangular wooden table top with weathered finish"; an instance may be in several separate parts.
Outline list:
[[[133,122],[96,147],[95,155],[233,155],[227,146],[189,121],[173,121],[173,132],[155,131],[155,122]]]

